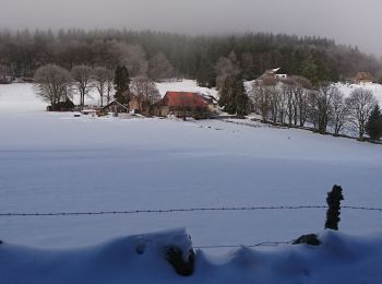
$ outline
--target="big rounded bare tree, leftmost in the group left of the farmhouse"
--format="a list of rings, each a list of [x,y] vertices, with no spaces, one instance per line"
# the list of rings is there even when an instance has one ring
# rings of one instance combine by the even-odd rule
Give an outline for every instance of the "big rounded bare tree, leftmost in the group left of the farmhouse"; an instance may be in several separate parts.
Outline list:
[[[34,83],[37,94],[53,107],[71,98],[71,78],[69,71],[56,64],[37,69]]]

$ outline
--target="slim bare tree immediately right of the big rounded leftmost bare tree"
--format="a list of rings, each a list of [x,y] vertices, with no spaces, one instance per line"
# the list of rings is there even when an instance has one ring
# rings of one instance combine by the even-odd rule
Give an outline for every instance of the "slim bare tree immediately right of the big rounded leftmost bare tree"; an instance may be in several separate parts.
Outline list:
[[[73,84],[80,93],[80,105],[85,105],[85,96],[92,88],[92,68],[87,66],[75,66],[71,71]]]

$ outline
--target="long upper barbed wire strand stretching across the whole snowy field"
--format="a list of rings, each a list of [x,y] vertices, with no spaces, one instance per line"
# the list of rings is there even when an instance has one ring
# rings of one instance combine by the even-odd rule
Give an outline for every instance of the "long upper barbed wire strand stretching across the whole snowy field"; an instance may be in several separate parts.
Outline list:
[[[9,213],[0,213],[0,217],[123,215],[123,214],[144,214],[144,213],[146,213],[146,214],[165,214],[165,213],[207,212],[207,211],[310,210],[310,209],[327,209],[327,206],[326,205],[280,205],[280,206],[190,208],[190,209],[165,209],[165,210],[126,210],[126,211],[98,211],[98,212],[36,212],[36,213],[9,212]],[[343,205],[342,209],[382,212],[382,208]]]

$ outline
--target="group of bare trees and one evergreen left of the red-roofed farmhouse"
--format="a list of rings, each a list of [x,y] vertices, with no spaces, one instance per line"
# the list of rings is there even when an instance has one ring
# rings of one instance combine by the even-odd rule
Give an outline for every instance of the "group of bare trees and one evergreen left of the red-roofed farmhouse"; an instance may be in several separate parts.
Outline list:
[[[37,94],[50,104],[51,110],[73,108],[73,94],[80,95],[80,106],[94,91],[99,96],[99,105],[116,99],[128,104],[135,98],[141,106],[150,107],[160,99],[155,83],[146,75],[130,79],[128,68],[118,66],[111,71],[104,67],[74,66],[70,71],[57,64],[46,64],[37,69],[34,75]]]

